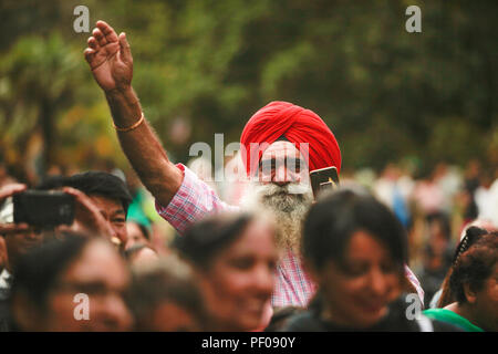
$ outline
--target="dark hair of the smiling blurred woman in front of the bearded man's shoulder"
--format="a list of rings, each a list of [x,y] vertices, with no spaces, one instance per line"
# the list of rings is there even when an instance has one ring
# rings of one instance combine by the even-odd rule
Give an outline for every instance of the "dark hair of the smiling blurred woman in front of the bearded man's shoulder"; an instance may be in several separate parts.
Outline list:
[[[173,246],[195,266],[209,266],[212,258],[231,244],[252,220],[249,214],[219,214],[194,223]]]

